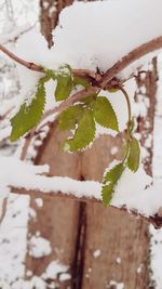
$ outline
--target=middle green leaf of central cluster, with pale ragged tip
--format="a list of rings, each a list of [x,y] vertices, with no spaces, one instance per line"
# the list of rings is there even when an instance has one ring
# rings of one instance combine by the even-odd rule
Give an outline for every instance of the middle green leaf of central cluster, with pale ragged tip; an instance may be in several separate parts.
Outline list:
[[[95,137],[95,121],[91,110],[85,110],[82,115],[73,139],[64,143],[64,150],[76,152],[86,147]]]

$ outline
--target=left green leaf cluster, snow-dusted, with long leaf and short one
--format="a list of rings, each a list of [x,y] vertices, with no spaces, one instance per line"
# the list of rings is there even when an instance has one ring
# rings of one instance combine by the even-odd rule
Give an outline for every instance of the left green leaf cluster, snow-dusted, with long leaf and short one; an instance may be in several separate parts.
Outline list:
[[[44,76],[38,81],[31,102],[25,100],[18,113],[11,119],[12,132],[10,140],[12,142],[15,142],[30,131],[41,120],[45,106],[44,84],[50,79],[56,81],[56,89],[54,91],[56,101],[65,101],[78,84],[84,88],[91,84],[84,78],[73,77],[68,65],[60,67],[57,71],[44,69]]]

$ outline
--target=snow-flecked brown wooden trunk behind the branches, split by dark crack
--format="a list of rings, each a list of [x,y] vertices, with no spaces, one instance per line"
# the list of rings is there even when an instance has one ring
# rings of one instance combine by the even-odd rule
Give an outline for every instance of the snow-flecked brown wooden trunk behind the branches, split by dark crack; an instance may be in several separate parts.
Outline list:
[[[48,3],[48,4],[44,4]],[[41,0],[41,27],[49,47],[52,45],[51,28],[57,22],[60,8],[71,1],[56,2],[56,11],[50,14],[54,6],[53,0]],[[138,90],[136,98],[145,103],[149,101],[147,116],[138,119],[138,132],[141,134],[141,144],[153,131],[153,116],[157,89],[157,66],[137,78]],[[144,93],[144,87],[146,91]],[[143,94],[143,97],[141,97]],[[147,100],[147,101],[146,101]],[[147,120],[147,121],[146,121]],[[120,158],[120,152],[112,155],[111,148],[120,147],[120,137],[102,136],[93,147],[84,153],[65,154],[59,145],[66,134],[57,130],[56,122],[50,128],[49,135],[38,150],[35,163],[49,163],[51,175],[68,175],[77,180],[102,181],[105,168],[114,157]],[[152,140],[145,159],[145,167],[151,173]],[[52,260],[59,260],[69,266],[71,279],[57,283],[59,288],[71,289],[116,289],[111,283],[123,283],[124,289],[148,289],[148,258],[149,235],[148,226],[141,220],[134,219],[124,212],[105,209],[99,203],[78,203],[73,200],[49,200],[43,197],[43,207],[39,208],[31,197],[31,208],[37,218],[29,222],[29,239],[36,232],[50,239],[52,253],[42,259],[35,259],[27,254],[27,271],[40,276]],[[49,283],[51,280],[48,280]]]

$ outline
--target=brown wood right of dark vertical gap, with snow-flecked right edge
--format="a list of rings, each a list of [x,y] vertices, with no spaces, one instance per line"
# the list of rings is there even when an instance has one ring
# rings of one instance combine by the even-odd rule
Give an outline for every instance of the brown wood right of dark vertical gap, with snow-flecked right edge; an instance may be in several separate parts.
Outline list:
[[[148,153],[144,166],[149,174],[152,163],[157,60],[153,60],[151,68],[145,75],[138,75],[136,92],[136,100],[144,102],[147,110],[145,117],[138,118],[137,131],[141,135],[140,143]],[[120,147],[114,140],[103,136],[95,142],[91,150],[84,153],[82,173],[85,180],[102,180],[102,172],[112,161],[110,148],[113,145]],[[82,289],[116,289],[116,283],[123,283],[124,289],[148,289],[148,260],[149,235],[148,225],[144,221],[112,208],[104,209],[96,203],[86,207]]]

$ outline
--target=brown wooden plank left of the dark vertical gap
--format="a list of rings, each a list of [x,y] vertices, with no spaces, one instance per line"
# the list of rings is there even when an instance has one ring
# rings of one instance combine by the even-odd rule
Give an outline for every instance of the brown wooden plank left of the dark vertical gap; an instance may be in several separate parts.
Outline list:
[[[67,134],[57,130],[57,123],[55,122],[35,163],[49,163],[49,175],[70,176],[79,180],[79,154],[67,154],[60,150],[60,144],[66,136]],[[76,254],[80,206],[78,202],[66,198],[54,197],[51,199],[43,196],[42,200],[43,207],[39,208],[36,199],[31,197],[31,208],[37,215],[29,222],[28,244],[30,245],[30,237],[36,236],[39,232],[41,237],[50,240],[52,253],[39,259],[27,254],[27,271],[31,271],[37,276],[41,276],[53,260],[58,260],[60,263],[71,266]],[[67,283],[60,284],[59,288],[64,288],[65,284],[67,285]]]

